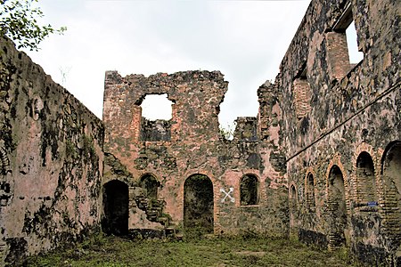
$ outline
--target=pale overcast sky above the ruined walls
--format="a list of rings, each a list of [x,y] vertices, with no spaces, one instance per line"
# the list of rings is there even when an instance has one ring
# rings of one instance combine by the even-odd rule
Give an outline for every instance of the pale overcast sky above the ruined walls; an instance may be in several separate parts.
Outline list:
[[[257,116],[258,86],[274,80],[309,2],[40,0],[44,22],[68,30],[29,55],[98,117],[106,70],[220,70],[226,125]]]

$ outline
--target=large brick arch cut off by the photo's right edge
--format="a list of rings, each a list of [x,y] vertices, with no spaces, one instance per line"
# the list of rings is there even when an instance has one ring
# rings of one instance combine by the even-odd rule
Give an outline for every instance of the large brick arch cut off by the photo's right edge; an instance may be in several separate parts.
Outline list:
[[[398,247],[401,242],[401,142],[390,142],[381,158],[383,226]]]

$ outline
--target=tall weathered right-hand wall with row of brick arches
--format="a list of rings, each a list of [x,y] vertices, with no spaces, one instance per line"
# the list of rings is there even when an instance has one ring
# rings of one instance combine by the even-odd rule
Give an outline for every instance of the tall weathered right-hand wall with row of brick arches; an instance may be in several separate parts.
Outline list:
[[[346,244],[369,263],[396,264],[400,254],[401,172],[385,171],[401,140],[400,9],[312,1],[276,80],[291,230],[323,247]],[[364,53],[356,65],[344,46],[350,20]]]

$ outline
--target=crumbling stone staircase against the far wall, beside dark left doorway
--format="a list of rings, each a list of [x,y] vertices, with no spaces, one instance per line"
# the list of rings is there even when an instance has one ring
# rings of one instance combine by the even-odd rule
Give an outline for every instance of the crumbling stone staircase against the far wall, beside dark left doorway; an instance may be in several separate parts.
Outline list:
[[[171,222],[171,217],[163,213],[166,202],[160,199],[151,199],[146,196],[146,191],[141,188],[135,188],[135,203],[136,206],[143,210],[147,219],[152,223],[160,223],[163,226],[163,231],[158,230],[135,230],[136,234],[141,232],[142,238],[169,238],[169,239],[182,239],[182,235],[178,233],[176,225]],[[135,236],[135,234],[134,234]]]

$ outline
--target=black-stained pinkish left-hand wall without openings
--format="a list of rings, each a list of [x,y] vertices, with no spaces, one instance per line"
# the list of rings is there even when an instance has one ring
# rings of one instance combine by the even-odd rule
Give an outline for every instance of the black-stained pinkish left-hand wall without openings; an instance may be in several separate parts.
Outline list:
[[[0,39],[0,262],[83,238],[102,214],[102,121]]]

